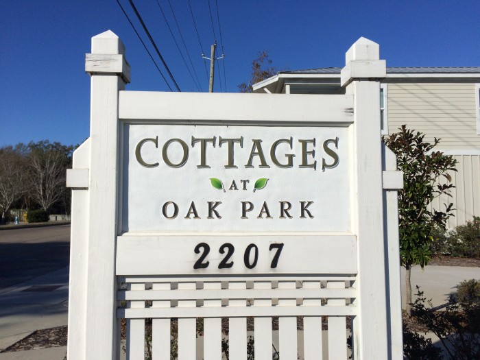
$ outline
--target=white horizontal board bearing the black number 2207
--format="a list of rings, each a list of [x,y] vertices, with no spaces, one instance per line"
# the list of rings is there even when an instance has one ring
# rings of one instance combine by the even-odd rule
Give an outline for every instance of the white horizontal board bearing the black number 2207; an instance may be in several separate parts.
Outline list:
[[[117,238],[117,275],[355,274],[355,235]]]

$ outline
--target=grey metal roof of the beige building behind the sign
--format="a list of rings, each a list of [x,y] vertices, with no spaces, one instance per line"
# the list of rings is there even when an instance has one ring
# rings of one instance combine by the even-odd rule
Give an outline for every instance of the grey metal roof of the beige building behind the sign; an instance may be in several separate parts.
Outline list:
[[[321,67],[318,69],[280,71],[280,74],[339,74],[341,67]],[[388,74],[404,73],[480,73],[480,67],[387,67]]]

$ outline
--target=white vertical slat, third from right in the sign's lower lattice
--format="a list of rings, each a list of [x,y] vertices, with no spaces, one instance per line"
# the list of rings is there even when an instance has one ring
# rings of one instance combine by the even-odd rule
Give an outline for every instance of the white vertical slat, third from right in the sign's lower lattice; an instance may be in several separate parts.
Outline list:
[[[278,289],[296,289],[296,281],[279,281]],[[297,299],[278,298],[279,307],[296,307]],[[280,317],[278,319],[280,357],[283,360],[297,360],[297,317]]]

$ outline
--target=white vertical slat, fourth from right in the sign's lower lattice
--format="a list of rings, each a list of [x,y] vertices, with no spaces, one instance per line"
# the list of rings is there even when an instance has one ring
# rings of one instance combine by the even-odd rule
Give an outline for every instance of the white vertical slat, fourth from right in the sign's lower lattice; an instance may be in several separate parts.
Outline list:
[[[271,289],[272,281],[255,281],[254,289]],[[252,308],[271,307],[272,299],[254,299]],[[262,309],[261,309],[262,310]],[[272,357],[272,317],[254,318],[254,354],[255,359],[270,359]]]

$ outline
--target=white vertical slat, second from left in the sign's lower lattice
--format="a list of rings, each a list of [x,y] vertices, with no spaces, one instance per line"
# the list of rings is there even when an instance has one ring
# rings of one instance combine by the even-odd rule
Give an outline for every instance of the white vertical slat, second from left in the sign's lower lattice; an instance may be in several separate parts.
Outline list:
[[[152,291],[170,291],[170,283],[153,283]],[[153,301],[152,307],[169,308],[170,302]],[[152,320],[152,360],[170,360],[170,319]]]

